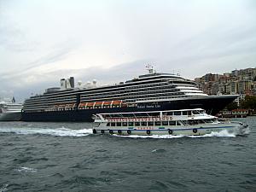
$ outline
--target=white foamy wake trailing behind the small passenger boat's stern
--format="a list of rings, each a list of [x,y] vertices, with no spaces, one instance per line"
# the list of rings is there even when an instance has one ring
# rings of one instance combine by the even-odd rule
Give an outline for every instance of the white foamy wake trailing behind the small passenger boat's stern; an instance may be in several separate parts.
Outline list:
[[[59,137],[84,137],[92,134],[92,129],[72,130],[65,127],[50,128],[1,128],[0,133],[15,133],[18,135],[49,135]]]

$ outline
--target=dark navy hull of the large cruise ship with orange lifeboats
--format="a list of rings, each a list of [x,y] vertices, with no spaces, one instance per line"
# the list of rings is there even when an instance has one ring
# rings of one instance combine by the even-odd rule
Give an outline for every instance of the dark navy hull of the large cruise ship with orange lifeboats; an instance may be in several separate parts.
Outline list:
[[[215,115],[222,110],[227,104],[234,101],[237,96],[201,96],[194,98],[182,98],[180,100],[163,101],[163,102],[142,102],[137,103],[136,107],[125,108],[92,108],[76,109],[63,111],[47,112],[22,112],[21,120],[23,121],[75,121],[75,122],[92,122],[92,115],[95,113],[124,113],[140,111],[163,111],[178,110],[189,108],[203,108],[207,113]]]

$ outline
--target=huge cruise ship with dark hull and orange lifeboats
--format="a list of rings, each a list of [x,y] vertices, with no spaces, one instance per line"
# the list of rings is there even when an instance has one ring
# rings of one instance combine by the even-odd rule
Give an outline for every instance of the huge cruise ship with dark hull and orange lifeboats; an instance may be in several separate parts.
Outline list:
[[[43,95],[24,102],[24,121],[91,122],[96,113],[203,108],[216,114],[237,95],[208,96],[194,81],[172,73],[148,73],[118,84],[97,86],[96,80],[74,86],[74,78],[61,79],[61,87],[49,88]]]

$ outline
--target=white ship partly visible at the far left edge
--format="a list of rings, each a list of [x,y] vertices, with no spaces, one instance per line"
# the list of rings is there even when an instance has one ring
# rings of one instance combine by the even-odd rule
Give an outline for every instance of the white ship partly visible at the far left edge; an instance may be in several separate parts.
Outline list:
[[[0,102],[0,121],[15,121],[21,119],[22,104],[15,102]]]

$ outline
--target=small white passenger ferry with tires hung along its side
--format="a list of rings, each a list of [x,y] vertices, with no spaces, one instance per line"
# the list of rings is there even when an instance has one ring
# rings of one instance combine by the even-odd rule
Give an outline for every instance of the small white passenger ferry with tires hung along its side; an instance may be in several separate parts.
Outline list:
[[[194,135],[211,132],[237,131],[243,133],[247,125],[241,122],[218,120],[201,108],[132,112],[97,113],[93,116],[93,133],[119,135]]]

